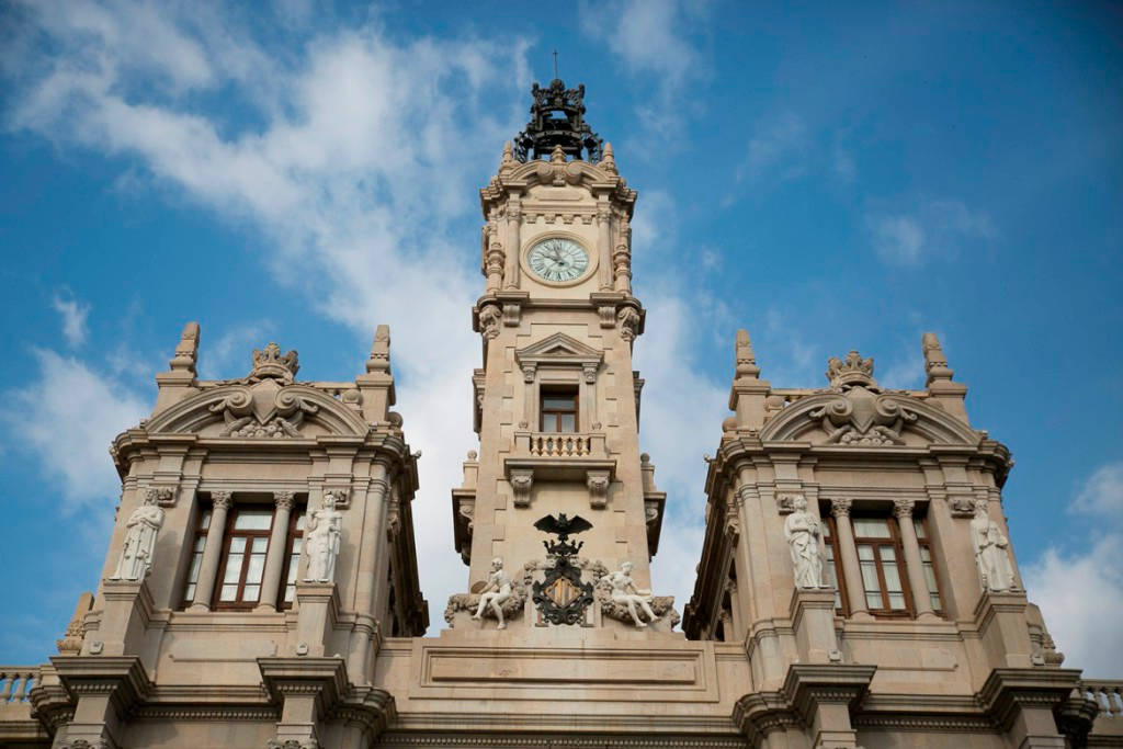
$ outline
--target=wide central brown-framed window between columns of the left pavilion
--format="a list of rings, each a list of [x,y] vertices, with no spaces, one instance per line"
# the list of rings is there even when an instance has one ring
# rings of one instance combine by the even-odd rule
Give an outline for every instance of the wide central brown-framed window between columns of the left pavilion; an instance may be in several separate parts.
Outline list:
[[[218,570],[216,609],[252,609],[262,595],[273,509],[235,506],[227,520],[226,555]]]

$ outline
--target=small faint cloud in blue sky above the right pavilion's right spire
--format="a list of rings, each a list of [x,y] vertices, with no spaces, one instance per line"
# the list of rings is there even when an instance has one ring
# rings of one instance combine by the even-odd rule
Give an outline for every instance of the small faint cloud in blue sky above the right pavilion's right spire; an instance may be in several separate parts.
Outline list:
[[[871,213],[866,223],[880,258],[905,267],[934,256],[951,257],[965,246],[987,245],[999,237],[985,211],[951,199],[926,201],[914,213]]]

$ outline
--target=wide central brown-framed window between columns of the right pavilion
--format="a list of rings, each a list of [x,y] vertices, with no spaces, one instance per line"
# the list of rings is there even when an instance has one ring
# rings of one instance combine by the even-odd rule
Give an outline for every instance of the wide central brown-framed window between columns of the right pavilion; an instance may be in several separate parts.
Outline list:
[[[912,614],[901,535],[893,518],[853,518],[853,540],[869,612],[879,616]]]

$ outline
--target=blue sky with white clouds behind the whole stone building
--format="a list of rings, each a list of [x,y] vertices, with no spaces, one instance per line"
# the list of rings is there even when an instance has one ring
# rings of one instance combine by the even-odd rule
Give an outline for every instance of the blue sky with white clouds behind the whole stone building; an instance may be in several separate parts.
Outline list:
[[[1120,7],[526,8],[0,10],[0,661],[45,659],[95,585],[107,447],[186,320],[208,377],[276,339],[349,378],[391,325],[440,622],[466,579],[447,492],[475,446],[476,190],[556,48],[640,192],[656,588],[690,595],[737,328],[776,386],[824,385],[850,348],[920,386],[934,330],[1017,459],[1006,512],[1067,665],[1123,673]]]

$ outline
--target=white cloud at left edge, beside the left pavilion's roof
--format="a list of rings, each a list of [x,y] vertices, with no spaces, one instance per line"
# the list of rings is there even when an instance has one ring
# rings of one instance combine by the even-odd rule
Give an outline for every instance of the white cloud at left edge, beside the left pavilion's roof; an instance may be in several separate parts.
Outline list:
[[[147,414],[148,399],[76,358],[49,349],[35,355],[38,378],[7,393],[12,403],[2,417],[7,441],[37,457],[43,473],[58,485],[64,506],[109,504],[120,494],[109,445]]]

